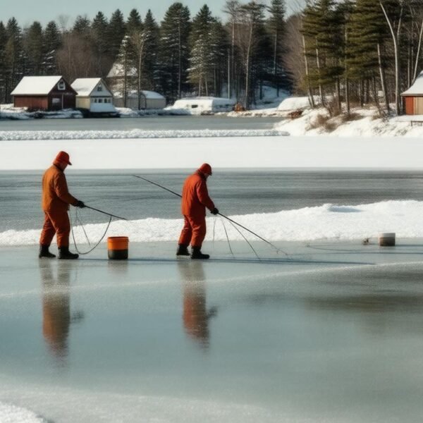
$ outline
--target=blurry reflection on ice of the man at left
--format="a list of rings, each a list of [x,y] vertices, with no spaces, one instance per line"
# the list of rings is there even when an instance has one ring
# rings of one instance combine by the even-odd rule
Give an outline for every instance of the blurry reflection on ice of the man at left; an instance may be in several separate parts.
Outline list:
[[[68,263],[56,262],[56,275],[49,259],[39,260],[42,280],[42,334],[51,354],[62,364],[68,356],[69,326],[83,319],[83,312],[71,317],[69,283],[71,268]]]

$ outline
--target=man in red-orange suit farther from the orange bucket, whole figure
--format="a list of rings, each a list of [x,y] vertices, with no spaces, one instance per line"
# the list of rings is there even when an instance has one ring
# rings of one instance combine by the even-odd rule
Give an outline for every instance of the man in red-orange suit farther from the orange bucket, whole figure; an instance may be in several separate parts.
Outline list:
[[[178,241],[177,256],[190,255],[188,245],[192,247],[192,259],[208,259],[208,254],[202,254],[202,242],[206,236],[206,207],[212,214],[218,214],[207,190],[207,178],[212,175],[212,166],[202,164],[195,173],[185,180],[182,190],[182,214],[184,226]]]

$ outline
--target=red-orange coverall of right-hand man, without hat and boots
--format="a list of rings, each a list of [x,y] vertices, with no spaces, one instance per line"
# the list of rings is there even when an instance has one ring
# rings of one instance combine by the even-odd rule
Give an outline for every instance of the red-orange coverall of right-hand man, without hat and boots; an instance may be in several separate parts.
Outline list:
[[[202,246],[206,236],[206,207],[210,211],[214,209],[214,203],[209,197],[206,178],[203,173],[196,171],[186,178],[182,190],[181,210],[184,217],[184,226],[180,233],[178,243]]]

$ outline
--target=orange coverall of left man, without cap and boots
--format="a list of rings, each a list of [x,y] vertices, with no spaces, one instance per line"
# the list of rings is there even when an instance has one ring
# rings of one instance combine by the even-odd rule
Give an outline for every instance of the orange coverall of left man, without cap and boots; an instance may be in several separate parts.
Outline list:
[[[57,166],[51,166],[42,176],[42,209],[44,210],[44,226],[42,228],[41,245],[50,245],[56,234],[57,246],[69,246],[69,204],[78,202],[69,194],[66,176]]]

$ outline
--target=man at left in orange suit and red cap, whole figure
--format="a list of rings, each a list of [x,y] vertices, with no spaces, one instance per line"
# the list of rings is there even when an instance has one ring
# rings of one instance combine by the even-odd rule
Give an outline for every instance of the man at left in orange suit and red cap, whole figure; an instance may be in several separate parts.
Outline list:
[[[77,200],[68,191],[65,169],[71,165],[69,154],[59,152],[53,162],[53,166],[44,172],[42,177],[42,209],[44,211],[44,227],[39,239],[39,255],[49,259],[56,257],[49,252],[51,240],[56,234],[57,246],[59,247],[59,259],[78,259],[78,254],[69,252],[69,234],[71,223],[69,221],[69,204],[75,207],[85,207],[85,204]]]

